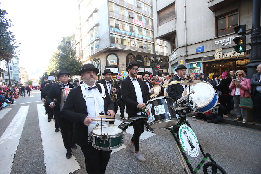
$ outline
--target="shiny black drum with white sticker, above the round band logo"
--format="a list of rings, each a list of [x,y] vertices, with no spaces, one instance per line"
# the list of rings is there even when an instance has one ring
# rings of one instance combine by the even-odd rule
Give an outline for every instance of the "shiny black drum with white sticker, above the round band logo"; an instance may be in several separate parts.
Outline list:
[[[171,97],[155,97],[146,102],[146,112],[148,115],[148,126],[150,128],[167,128],[179,124],[174,109],[175,103]]]

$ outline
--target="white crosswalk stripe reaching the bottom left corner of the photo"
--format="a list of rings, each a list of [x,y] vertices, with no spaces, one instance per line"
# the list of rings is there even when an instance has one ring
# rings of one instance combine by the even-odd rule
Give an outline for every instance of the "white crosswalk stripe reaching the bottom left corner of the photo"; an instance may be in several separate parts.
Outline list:
[[[13,166],[14,155],[16,153],[23,126],[26,120],[29,106],[21,106],[12,122],[6,128],[3,135],[0,137],[0,168],[1,173],[11,173]]]

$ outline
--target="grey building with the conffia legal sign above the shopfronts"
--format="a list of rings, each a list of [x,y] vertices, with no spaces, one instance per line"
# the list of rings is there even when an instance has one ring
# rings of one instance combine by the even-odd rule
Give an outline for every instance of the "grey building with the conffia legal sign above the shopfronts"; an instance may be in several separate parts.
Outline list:
[[[220,75],[238,69],[247,73],[251,35],[246,36],[247,51],[237,53],[233,28],[247,24],[247,32],[251,31],[253,1],[153,0],[153,7],[154,36],[169,42],[171,72],[184,64],[189,73]]]

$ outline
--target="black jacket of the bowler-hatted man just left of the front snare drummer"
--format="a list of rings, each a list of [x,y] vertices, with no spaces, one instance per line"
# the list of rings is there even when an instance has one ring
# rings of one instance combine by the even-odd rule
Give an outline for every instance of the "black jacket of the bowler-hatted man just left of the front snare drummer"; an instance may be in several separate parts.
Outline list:
[[[57,99],[55,107],[53,108],[55,116],[57,116],[57,117],[61,117],[61,110],[60,110],[61,87],[62,86],[60,84],[53,84],[46,97],[47,106],[49,106],[50,103],[53,102],[53,99]],[[69,87],[70,88],[74,87],[72,82],[69,82]]]

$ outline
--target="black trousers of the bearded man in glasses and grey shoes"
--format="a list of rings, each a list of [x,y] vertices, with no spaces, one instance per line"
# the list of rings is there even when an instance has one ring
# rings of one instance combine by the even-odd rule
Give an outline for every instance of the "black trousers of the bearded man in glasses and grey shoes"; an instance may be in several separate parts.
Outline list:
[[[141,115],[129,114],[128,118],[139,117],[139,116],[145,117],[146,115],[145,114],[141,114]],[[142,121],[142,122],[138,122],[132,126],[134,129],[134,133],[131,138],[131,141],[134,142],[135,151],[139,151],[139,137],[144,132],[144,125],[145,125],[145,121]]]

